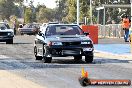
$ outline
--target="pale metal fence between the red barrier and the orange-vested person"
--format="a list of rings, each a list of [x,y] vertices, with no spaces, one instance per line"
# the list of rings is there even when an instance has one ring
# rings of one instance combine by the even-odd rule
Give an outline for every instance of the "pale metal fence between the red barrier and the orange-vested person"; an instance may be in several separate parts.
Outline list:
[[[123,37],[121,24],[98,25],[99,37]]]

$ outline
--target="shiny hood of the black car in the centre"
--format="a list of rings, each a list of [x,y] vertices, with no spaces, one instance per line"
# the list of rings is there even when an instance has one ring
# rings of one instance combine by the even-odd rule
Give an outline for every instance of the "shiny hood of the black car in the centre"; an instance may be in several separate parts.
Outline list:
[[[85,35],[54,35],[48,36],[48,41],[60,41],[60,42],[70,42],[70,41],[88,41],[91,40],[88,36]]]

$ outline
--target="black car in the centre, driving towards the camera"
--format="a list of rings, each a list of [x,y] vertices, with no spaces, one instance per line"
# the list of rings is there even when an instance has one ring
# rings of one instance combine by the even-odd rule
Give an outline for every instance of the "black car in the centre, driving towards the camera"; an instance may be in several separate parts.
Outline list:
[[[73,56],[75,61],[85,56],[85,61],[93,61],[93,42],[75,24],[48,24],[35,38],[36,60],[50,63],[52,57]]]

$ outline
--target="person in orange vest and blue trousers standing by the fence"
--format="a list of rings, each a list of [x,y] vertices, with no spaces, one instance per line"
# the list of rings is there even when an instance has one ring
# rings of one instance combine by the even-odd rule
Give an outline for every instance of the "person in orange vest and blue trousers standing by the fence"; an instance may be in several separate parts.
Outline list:
[[[129,42],[129,28],[130,28],[130,19],[128,18],[128,16],[125,16],[122,19],[122,28],[124,30],[124,40],[125,42]]]

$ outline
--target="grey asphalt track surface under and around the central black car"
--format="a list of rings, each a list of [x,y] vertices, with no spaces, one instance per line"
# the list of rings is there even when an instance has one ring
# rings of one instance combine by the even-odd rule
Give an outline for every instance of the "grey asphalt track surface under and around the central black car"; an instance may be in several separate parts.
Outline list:
[[[124,43],[123,39],[117,40],[113,43]],[[105,41],[100,39],[99,43],[107,44],[109,41],[110,39]],[[53,58],[52,63],[47,64],[35,60],[33,42],[34,36],[23,35],[15,36],[14,44],[0,43],[0,74],[7,74],[0,79],[0,82],[6,82],[0,85],[7,87],[0,86],[0,88],[11,88],[13,84],[16,88],[33,88],[33,85],[34,88],[83,88],[78,81],[83,67],[88,71],[91,79],[132,80],[131,60],[95,56],[94,62],[87,64],[84,59],[74,62],[73,57],[56,57]],[[7,82],[9,76],[14,77],[9,79],[12,81],[10,85]],[[2,77],[6,78],[2,79]],[[86,88],[132,88],[132,86],[88,86]]]

